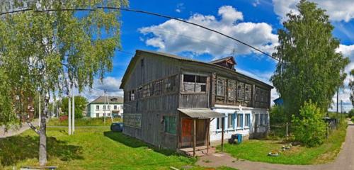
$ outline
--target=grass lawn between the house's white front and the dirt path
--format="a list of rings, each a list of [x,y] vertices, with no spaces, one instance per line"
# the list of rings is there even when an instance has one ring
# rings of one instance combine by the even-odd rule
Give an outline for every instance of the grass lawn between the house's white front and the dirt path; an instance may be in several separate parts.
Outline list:
[[[341,145],[346,138],[346,125],[334,130],[329,139],[319,147],[293,146],[290,150],[280,153],[279,157],[269,157],[273,150],[280,150],[285,143],[282,140],[249,140],[241,145],[224,145],[224,152],[232,157],[255,162],[274,164],[323,164],[336,159]],[[217,147],[220,149],[220,147]]]

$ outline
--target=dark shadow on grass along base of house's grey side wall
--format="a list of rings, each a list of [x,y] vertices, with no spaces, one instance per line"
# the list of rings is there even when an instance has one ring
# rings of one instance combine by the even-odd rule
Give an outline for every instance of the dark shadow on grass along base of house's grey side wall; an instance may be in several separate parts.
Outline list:
[[[142,140],[138,140],[134,137],[124,135],[122,132],[107,131],[107,132],[103,132],[103,134],[105,135],[105,137],[109,137],[111,140],[119,142],[122,145],[125,145],[127,147],[133,147],[133,148],[147,147],[149,149],[153,149],[154,152],[159,152],[159,153],[164,154],[166,156],[180,155],[171,149],[159,149],[157,147],[154,147],[153,145],[149,145],[146,142],[143,142]]]

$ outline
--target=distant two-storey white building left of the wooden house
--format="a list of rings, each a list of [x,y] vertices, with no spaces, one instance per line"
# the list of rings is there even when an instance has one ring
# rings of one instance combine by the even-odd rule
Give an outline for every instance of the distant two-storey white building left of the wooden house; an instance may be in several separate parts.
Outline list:
[[[123,98],[118,96],[99,96],[87,105],[87,116],[91,118],[110,117],[123,113]]]

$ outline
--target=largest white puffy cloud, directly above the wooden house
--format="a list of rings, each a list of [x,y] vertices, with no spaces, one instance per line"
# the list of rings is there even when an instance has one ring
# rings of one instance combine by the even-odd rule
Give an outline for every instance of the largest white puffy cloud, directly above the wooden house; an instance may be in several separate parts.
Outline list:
[[[268,23],[242,22],[243,13],[232,6],[221,6],[218,16],[220,19],[217,19],[217,16],[195,13],[187,21],[219,30],[268,53],[273,52],[275,45],[278,45],[278,35],[272,33],[273,28]],[[145,35],[147,45],[157,47],[163,52],[210,54],[216,58],[233,54],[233,50],[237,55],[253,53],[249,47],[234,40],[175,20],[139,28],[139,32]]]

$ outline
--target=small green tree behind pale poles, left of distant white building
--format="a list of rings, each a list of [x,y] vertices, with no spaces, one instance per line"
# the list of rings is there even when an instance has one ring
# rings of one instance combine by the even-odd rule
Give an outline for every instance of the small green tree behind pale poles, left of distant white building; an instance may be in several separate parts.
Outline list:
[[[70,98],[72,101],[72,98]],[[62,108],[62,112],[64,112],[65,115],[68,113],[68,98],[62,98],[61,101],[62,105],[60,108]],[[86,109],[86,104],[89,103],[87,99],[83,96],[75,96],[75,118],[82,118],[83,115],[82,113]]]

